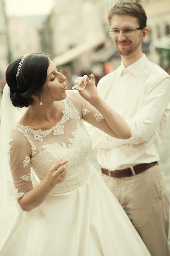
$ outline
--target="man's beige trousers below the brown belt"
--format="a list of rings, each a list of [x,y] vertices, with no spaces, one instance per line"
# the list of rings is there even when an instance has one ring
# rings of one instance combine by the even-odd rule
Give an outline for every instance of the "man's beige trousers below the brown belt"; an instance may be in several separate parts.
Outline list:
[[[132,177],[102,178],[126,211],[152,256],[170,256],[169,197],[158,164]]]

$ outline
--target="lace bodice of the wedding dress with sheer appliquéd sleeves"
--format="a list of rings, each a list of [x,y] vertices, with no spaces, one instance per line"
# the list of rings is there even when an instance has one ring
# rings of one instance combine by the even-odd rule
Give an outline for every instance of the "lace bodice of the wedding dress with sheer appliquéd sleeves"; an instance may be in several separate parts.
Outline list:
[[[55,186],[52,193],[75,189],[89,176],[87,157],[91,138],[82,118],[95,124],[105,120],[77,91],[68,93],[62,102],[62,118],[54,127],[34,130],[18,123],[11,134],[9,162],[18,198],[32,186],[30,168],[41,181],[50,166],[62,157],[68,159],[67,177]]]

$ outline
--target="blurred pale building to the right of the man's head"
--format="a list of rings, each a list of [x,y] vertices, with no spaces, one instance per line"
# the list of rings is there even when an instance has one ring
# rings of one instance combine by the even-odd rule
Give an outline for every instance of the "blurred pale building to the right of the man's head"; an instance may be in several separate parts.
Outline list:
[[[170,0],[141,0],[148,15],[150,61],[170,74]]]

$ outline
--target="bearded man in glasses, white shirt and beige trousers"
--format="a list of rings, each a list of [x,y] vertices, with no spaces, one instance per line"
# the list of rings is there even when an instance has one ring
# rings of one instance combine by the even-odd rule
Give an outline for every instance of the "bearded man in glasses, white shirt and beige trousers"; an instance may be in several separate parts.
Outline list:
[[[169,197],[159,165],[159,148],[170,114],[170,76],[142,52],[148,28],[139,2],[117,2],[108,20],[121,65],[99,81],[97,90],[124,117],[132,137],[115,139],[87,126],[88,132],[93,148],[99,148],[97,159],[104,181],[150,254],[170,256]]]

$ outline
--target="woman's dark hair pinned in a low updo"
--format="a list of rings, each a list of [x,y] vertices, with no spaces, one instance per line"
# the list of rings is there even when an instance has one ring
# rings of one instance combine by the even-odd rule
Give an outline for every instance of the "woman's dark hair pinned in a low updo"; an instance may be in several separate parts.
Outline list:
[[[33,53],[24,59],[19,76],[16,77],[21,58],[12,61],[7,67],[6,81],[10,88],[10,98],[15,107],[28,107],[33,103],[33,94],[40,94],[46,82],[50,57],[47,54]]]

